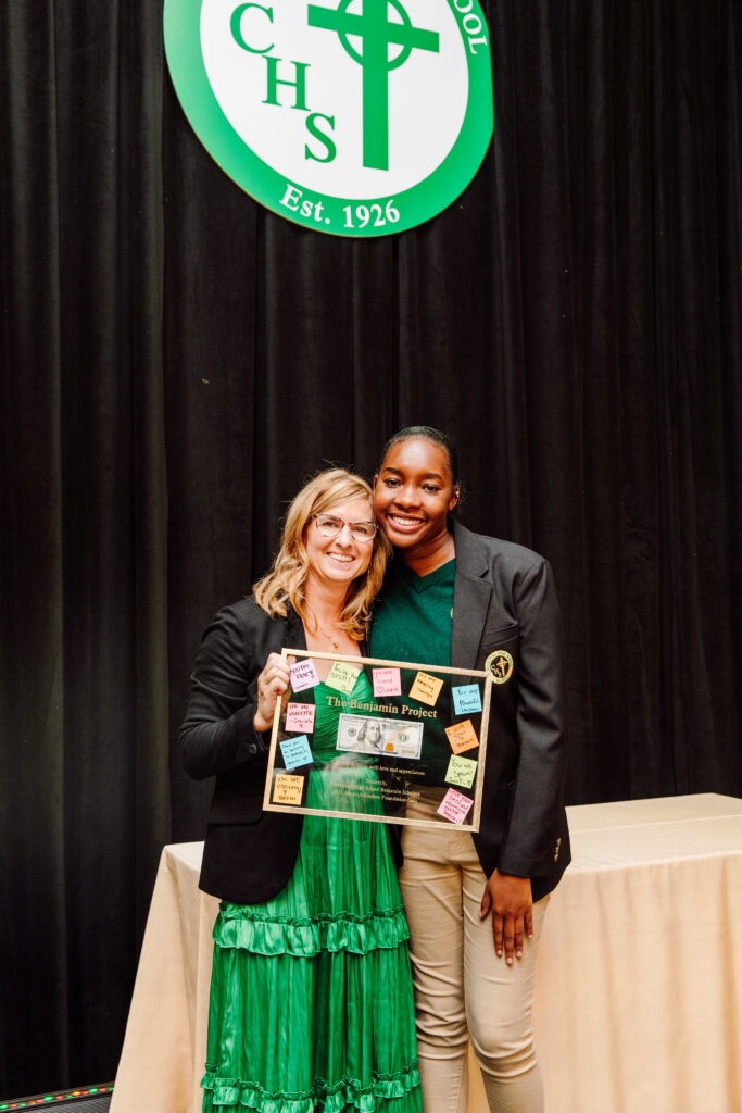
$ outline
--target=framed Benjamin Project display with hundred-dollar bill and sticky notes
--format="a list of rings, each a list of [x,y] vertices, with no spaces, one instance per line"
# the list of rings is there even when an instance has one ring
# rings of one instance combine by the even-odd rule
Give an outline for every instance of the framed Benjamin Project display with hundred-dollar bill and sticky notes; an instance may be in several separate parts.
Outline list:
[[[479,829],[489,670],[281,654],[293,663],[270,735],[267,811]]]

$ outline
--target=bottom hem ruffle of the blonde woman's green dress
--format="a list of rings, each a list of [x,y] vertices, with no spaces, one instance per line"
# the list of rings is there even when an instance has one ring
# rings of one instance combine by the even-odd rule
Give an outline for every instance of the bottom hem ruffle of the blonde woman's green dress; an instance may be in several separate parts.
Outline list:
[[[215,1064],[206,1064],[201,1086],[210,1095],[212,1107],[255,1110],[256,1113],[313,1113],[318,1104],[325,1113],[342,1113],[356,1109],[359,1113],[374,1113],[379,1100],[384,1102],[407,1097],[419,1086],[415,1063],[395,1074],[377,1075],[368,1086],[358,1078],[344,1078],[329,1086],[321,1078],[315,1080],[309,1091],[303,1093],[269,1093],[254,1082],[219,1077]]]

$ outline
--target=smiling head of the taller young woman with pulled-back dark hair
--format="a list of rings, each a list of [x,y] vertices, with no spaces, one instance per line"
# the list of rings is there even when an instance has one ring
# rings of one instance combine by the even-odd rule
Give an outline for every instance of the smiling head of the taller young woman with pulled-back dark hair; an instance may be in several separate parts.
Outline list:
[[[451,538],[447,515],[458,502],[448,453],[423,436],[393,444],[374,480],[374,512],[405,560]]]

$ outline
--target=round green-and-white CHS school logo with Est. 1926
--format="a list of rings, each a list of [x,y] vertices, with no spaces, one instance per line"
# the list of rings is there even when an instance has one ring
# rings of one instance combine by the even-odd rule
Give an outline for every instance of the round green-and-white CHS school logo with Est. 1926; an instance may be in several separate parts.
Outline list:
[[[428,220],[493,129],[477,0],[165,0],[172,82],[219,166],[317,232]]]

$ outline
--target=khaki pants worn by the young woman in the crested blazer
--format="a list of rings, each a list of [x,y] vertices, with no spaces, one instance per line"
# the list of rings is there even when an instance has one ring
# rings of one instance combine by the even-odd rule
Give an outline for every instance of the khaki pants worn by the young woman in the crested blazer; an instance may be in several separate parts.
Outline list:
[[[468,1040],[492,1113],[541,1113],[531,1012],[536,951],[548,897],[534,905],[523,958],[497,958],[486,884],[472,836],[405,827],[399,884],[412,937],[424,1113],[466,1113]]]

